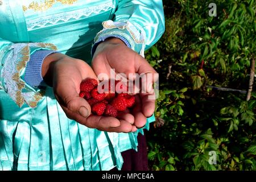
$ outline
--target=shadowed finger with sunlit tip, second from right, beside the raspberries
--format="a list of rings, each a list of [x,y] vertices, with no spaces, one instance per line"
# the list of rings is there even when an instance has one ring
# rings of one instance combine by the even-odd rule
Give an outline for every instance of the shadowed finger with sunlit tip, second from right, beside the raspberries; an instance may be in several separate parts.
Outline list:
[[[147,118],[142,113],[141,98],[139,96],[135,96],[135,107],[133,109],[133,115],[134,115],[134,125],[137,128],[141,128],[144,125],[146,125]]]

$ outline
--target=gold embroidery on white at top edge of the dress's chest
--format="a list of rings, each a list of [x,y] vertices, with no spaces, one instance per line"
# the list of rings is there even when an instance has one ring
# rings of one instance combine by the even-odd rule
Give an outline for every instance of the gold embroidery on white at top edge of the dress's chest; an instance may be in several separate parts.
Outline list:
[[[50,9],[55,3],[59,2],[62,5],[73,5],[73,3],[78,0],[44,0],[44,2],[31,2],[30,5],[23,6],[23,11],[27,11],[28,9],[34,11],[46,11]]]

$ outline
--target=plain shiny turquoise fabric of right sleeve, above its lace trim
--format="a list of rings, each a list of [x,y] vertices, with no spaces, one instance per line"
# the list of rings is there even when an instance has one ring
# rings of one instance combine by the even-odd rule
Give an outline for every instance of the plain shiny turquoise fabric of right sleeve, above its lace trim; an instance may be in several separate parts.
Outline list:
[[[114,21],[129,20],[145,32],[146,49],[154,45],[164,33],[162,0],[120,0]]]

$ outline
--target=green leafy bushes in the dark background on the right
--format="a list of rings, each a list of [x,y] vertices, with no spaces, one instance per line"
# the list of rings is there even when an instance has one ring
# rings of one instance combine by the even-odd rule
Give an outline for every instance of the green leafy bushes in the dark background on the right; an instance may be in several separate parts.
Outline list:
[[[150,169],[256,170],[255,1],[163,3],[166,32],[146,53],[160,74]]]

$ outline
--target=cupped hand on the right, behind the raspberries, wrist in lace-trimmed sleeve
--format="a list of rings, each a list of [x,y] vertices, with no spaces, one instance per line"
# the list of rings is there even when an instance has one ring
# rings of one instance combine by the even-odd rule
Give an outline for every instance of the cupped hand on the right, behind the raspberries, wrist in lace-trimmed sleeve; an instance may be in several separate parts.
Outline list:
[[[106,73],[110,77],[110,70],[115,69],[115,73],[124,73],[128,78],[129,73],[150,74],[151,77],[146,82],[142,82],[143,88],[148,88],[156,81],[158,74],[137,52],[128,48],[122,40],[110,38],[97,46],[92,61],[93,71],[96,75]],[[136,104],[132,114],[134,115],[134,125],[141,128],[146,124],[146,118],[154,114],[155,99],[154,90],[147,90],[146,93],[136,97]]]

